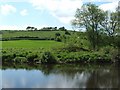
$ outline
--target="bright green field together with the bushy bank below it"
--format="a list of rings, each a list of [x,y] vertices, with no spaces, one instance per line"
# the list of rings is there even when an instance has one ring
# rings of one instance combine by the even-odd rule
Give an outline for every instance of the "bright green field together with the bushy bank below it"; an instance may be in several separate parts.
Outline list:
[[[110,53],[104,51],[70,52],[62,42],[16,40],[3,41],[3,62],[16,63],[97,63],[114,62]]]

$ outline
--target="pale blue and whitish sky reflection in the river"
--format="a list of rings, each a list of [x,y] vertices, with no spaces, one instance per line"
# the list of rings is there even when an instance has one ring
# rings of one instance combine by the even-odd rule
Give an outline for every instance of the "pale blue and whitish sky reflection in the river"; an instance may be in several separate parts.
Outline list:
[[[87,73],[76,73],[74,77],[66,74],[44,75],[39,70],[4,70],[2,87],[4,88],[84,88],[89,78]]]

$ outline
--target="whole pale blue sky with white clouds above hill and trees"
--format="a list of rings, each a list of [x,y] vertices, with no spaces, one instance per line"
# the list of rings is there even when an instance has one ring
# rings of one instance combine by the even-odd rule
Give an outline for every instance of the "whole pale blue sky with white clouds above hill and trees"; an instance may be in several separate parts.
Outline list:
[[[0,30],[25,30],[27,26],[62,27],[72,30],[77,8],[92,2],[115,11],[119,0],[0,0]]]

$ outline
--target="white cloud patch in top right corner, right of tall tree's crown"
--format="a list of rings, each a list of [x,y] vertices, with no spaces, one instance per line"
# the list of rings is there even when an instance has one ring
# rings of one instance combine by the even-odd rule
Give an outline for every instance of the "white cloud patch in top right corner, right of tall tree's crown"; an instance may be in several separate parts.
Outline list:
[[[106,3],[102,4],[99,6],[99,8],[103,9],[104,11],[115,11],[116,8],[118,7],[118,2],[111,2],[111,3]]]

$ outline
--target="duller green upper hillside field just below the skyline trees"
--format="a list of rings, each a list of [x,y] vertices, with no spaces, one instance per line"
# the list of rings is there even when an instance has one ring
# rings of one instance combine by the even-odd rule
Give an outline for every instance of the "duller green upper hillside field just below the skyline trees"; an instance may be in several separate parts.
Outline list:
[[[13,37],[39,37],[39,38],[54,38],[55,33],[59,32],[63,35],[64,31],[2,31],[2,38],[13,38]]]

